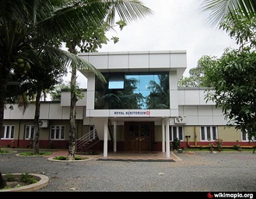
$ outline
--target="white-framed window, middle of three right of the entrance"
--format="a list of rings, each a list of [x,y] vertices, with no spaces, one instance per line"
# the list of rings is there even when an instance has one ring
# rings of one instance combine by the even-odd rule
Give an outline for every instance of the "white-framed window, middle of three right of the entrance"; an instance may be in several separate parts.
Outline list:
[[[200,126],[200,141],[215,141],[218,139],[217,126]]]

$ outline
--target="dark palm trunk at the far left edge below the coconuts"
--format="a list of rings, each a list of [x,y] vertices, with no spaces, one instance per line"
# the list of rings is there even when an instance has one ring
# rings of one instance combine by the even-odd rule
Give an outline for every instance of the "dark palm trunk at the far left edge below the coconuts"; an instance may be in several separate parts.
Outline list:
[[[6,90],[7,90],[7,77],[8,72],[5,67],[1,66],[0,71],[0,151],[1,151],[1,137],[3,134],[3,113],[6,100]]]

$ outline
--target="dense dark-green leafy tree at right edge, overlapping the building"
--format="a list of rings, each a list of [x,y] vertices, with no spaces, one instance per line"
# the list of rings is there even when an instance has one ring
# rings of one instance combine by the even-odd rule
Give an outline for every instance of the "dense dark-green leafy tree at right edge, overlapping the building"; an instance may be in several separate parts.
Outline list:
[[[222,107],[228,125],[249,133],[256,133],[256,52],[250,48],[226,51],[212,70],[206,72],[212,82],[207,101]]]

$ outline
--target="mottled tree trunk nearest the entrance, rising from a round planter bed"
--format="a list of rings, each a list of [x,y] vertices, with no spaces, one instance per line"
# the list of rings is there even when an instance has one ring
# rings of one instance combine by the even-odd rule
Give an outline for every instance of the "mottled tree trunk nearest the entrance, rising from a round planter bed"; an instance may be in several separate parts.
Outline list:
[[[69,153],[67,155],[67,160],[75,160],[76,153],[76,66],[71,65],[71,105],[69,114]]]

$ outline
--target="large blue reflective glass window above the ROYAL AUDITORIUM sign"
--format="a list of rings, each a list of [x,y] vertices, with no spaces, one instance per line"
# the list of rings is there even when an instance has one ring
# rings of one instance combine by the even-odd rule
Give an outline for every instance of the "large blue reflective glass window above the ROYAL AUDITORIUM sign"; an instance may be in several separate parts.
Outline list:
[[[95,82],[95,109],[170,109],[169,74],[103,73]]]

